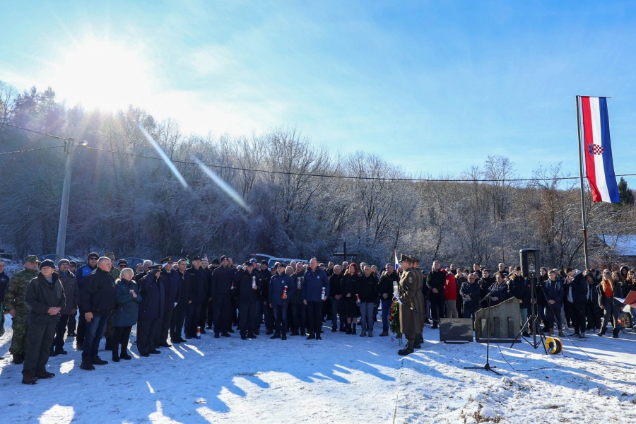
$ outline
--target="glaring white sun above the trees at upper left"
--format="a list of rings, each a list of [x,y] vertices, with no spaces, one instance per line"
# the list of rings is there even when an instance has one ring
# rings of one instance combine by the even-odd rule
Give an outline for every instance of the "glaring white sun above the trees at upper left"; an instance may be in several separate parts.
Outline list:
[[[142,47],[92,38],[60,52],[47,80],[59,98],[102,110],[147,106],[153,85]]]

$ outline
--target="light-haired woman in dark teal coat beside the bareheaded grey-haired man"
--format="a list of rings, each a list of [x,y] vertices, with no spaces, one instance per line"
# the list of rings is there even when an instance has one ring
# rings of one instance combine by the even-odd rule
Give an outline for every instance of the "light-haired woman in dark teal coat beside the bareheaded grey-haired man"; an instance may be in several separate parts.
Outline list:
[[[112,313],[112,360],[119,362],[119,359],[132,359],[128,354],[128,340],[132,326],[137,324],[137,316],[139,314],[139,288],[132,281],[134,271],[131,268],[124,268],[119,273],[119,278],[115,282],[115,296],[117,301],[116,309]],[[122,345],[122,351],[118,355],[119,345]]]

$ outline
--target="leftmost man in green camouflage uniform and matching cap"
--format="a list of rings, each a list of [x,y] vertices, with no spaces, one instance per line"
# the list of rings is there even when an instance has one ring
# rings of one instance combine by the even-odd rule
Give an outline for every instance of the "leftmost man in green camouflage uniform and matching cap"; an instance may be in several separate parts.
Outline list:
[[[26,285],[36,277],[37,257],[35,254],[31,254],[24,258],[24,269],[13,274],[6,288],[6,293],[4,293],[4,305],[13,317],[11,323],[13,338],[11,338],[9,353],[13,355],[13,363],[15,364],[24,362],[27,350],[29,311],[24,305],[24,293]]]

